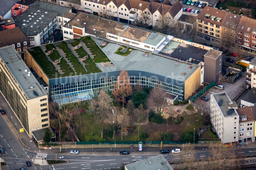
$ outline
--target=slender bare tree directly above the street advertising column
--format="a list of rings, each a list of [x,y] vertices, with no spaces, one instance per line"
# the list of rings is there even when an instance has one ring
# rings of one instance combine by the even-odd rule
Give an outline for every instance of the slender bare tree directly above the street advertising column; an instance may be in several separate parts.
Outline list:
[[[144,110],[143,105],[140,104],[138,109],[136,109],[136,112],[134,115],[135,125],[136,125],[137,132],[138,132],[138,141],[140,140],[141,129],[142,129],[142,126],[145,124],[145,119],[147,117],[147,114],[148,114],[148,112],[146,110]]]

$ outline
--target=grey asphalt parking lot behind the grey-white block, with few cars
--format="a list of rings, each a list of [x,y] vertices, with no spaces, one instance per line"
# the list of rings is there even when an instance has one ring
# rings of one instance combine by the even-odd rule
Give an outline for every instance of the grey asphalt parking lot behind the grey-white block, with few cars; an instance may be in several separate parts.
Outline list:
[[[220,89],[216,89],[216,88],[211,88],[211,90],[209,90],[207,93],[205,93],[202,96],[206,96],[209,101],[204,101],[201,100],[200,98],[195,100],[195,104],[204,107],[207,110],[210,110],[210,96],[211,94],[214,93],[223,93],[226,92],[227,95],[229,96],[231,101],[234,101],[242,91],[244,91],[246,89],[246,78],[245,77],[240,77],[236,82],[234,82],[234,84],[228,83],[228,82],[223,82],[221,85],[224,86],[223,90]],[[242,85],[242,86],[241,86]],[[236,103],[240,103],[240,102],[236,102]]]

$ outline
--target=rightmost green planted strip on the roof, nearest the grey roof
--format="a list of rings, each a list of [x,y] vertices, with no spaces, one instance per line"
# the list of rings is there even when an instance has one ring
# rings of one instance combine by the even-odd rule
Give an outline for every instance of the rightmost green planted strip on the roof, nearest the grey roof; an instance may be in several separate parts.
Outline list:
[[[95,55],[93,59],[95,63],[110,62],[109,58],[101,51],[90,36],[82,37],[80,40],[89,48],[92,55]]]

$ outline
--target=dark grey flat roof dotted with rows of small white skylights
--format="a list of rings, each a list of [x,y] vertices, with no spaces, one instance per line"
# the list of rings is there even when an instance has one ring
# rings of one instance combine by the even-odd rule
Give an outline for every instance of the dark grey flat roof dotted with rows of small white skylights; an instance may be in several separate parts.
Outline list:
[[[19,27],[27,36],[34,36],[42,31],[57,15],[58,13],[50,10],[29,7],[21,15],[14,17],[14,21],[16,27]]]

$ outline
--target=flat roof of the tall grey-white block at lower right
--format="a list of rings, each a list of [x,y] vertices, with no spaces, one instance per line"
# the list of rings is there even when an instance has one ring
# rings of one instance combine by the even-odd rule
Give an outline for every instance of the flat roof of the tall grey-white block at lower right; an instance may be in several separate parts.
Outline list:
[[[228,95],[224,93],[216,93],[216,94],[211,94],[214,96],[214,99],[216,100],[217,104],[219,105],[221,112],[223,113],[224,117],[227,116],[238,116],[238,113],[235,109],[230,109],[233,107],[237,108],[237,104],[234,101],[231,101]],[[232,102],[232,103],[231,103]],[[230,104],[229,104],[230,103]],[[230,108],[228,108],[230,107]]]

